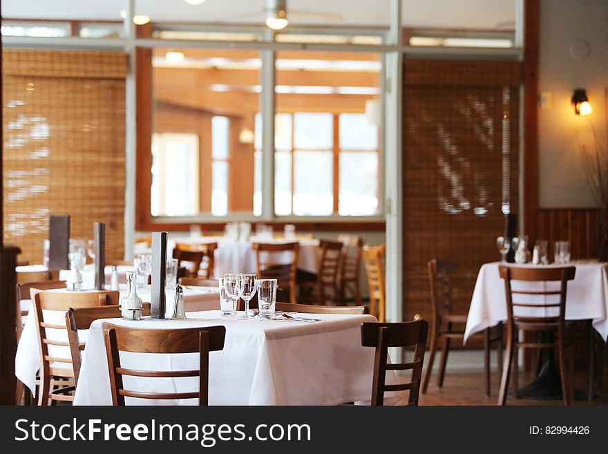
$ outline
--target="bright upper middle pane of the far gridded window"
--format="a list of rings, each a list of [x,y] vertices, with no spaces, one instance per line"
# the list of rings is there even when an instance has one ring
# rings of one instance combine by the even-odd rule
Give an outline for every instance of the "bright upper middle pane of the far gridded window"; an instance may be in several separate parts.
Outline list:
[[[331,113],[294,113],[294,148],[331,149],[334,144],[333,125]]]

